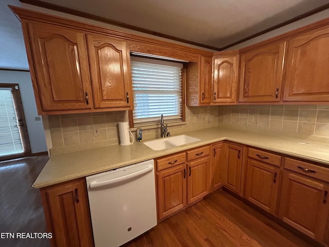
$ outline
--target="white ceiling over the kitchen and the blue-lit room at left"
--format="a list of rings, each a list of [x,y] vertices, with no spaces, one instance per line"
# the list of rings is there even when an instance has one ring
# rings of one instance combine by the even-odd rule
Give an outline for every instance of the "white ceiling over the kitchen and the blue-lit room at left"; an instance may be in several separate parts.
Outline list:
[[[114,21],[221,48],[329,0],[43,0]],[[19,21],[0,1],[0,68],[28,69]],[[6,45],[4,45],[6,44]]]

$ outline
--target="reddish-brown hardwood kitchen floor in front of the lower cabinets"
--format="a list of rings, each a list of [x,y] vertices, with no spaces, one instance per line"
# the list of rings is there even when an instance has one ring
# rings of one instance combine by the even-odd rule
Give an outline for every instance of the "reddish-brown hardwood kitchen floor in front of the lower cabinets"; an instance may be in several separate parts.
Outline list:
[[[121,247],[311,247],[310,244],[244,204],[217,190]]]

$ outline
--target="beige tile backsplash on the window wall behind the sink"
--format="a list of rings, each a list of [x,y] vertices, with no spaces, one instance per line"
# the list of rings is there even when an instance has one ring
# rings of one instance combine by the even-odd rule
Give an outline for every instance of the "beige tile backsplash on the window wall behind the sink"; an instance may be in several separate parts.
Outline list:
[[[219,107],[186,107],[185,123],[174,126],[169,124],[168,131],[174,135],[217,126],[218,109]],[[48,116],[48,120],[53,146],[51,153],[54,154],[119,144],[118,122],[128,121],[128,112],[52,115]],[[93,127],[99,128],[99,136],[94,136]],[[143,140],[160,137],[159,126],[142,129]],[[137,137],[136,129],[133,134]]]

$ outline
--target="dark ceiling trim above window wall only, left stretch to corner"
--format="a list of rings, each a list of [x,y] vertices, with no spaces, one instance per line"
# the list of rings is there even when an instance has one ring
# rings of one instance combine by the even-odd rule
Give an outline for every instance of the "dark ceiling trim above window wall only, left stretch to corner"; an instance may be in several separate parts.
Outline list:
[[[39,0],[19,0],[19,1],[21,3],[25,3],[25,4],[31,4],[31,5],[34,5],[34,6],[38,6],[38,7],[42,7],[42,8],[46,8],[46,9],[51,9],[51,10],[55,10],[55,11],[59,11],[59,12],[67,13],[67,14],[76,15],[76,16],[84,17],[84,18],[87,18],[87,19],[90,19],[90,20],[94,20],[94,21],[103,22],[103,23],[111,24],[111,25],[118,26],[118,27],[131,29],[131,30],[134,30],[134,31],[148,33],[148,34],[151,34],[151,35],[154,35],[154,36],[157,36],[157,37],[161,37],[161,38],[166,38],[166,39],[170,39],[170,40],[174,40],[174,41],[178,41],[178,42],[182,42],[182,43],[186,43],[186,44],[190,44],[190,45],[196,45],[196,46],[199,46],[199,47],[212,49],[212,50],[221,50],[221,48],[218,48],[218,47],[205,45],[205,44],[193,42],[193,41],[190,41],[190,40],[181,39],[181,38],[171,36],[171,35],[168,35],[168,34],[165,34],[165,33],[152,31],[152,30],[149,30],[149,29],[145,29],[145,28],[125,24],[125,23],[122,23],[122,22],[117,22],[117,21],[114,21],[114,20],[111,20],[111,19],[107,19],[105,17],[97,16],[97,15],[94,15],[94,14],[89,14],[89,13],[82,12],[82,11],[75,10],[75,9],[62,7],[62,6],[55,5],[55,4],[45,3],[45,2],[42,2],[42,1],[39,1]]]

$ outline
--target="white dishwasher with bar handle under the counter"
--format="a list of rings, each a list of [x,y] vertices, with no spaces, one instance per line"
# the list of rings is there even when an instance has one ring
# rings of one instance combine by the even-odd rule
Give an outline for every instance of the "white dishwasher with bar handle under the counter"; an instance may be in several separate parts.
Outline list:
[[[95,247],[117,247],[157,224],[154,161],[86,178]]]

